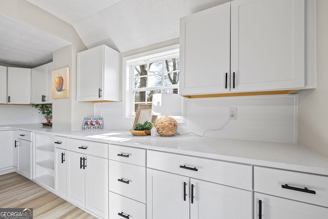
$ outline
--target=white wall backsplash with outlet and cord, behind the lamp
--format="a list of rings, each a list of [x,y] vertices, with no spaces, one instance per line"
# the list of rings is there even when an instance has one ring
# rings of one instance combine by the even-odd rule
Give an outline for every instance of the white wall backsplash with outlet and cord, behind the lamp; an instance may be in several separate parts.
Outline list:
[[[186,99],[186,124],[178,132],[202,135],[218,129],[229,118],[229,107],[237,107],[237,120],[205,136],[272,142],[297,142],[298,96],[268,95]],[[122,102],[97,103],[95,115],[104,117],[104,128],[129,130],[134,118],[125,118]]]

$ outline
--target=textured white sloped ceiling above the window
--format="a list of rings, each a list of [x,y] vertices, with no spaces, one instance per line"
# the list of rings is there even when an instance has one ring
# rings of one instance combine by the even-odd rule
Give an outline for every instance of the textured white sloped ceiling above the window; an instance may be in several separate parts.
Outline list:
[[[180,17],[229,0],[27,0],[71,24],[84,44],[119,52],[179,37]]]

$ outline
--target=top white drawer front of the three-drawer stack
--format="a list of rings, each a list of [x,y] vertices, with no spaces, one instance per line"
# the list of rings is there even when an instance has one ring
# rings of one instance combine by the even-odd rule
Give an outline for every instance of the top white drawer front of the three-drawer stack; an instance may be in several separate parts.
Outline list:
[[[138,166],[146,166],[146,150],[139,148],[109,145],[108,158]]]

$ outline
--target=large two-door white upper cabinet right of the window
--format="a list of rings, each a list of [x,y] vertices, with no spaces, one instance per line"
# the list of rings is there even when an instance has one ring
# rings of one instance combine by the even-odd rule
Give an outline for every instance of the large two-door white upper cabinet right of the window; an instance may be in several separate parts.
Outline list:
[[[180,94],[304,88],[313,15],[304,0],[235,0],[181,18]]]

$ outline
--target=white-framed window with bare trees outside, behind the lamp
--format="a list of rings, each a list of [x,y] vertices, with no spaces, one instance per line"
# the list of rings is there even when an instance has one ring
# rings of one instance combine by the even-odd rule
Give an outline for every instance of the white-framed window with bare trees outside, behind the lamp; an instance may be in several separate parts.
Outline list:
[[[179,93],[178,45],[123,58],[125,116],[134,117],[138,104],[152,102],[154,93]]]

